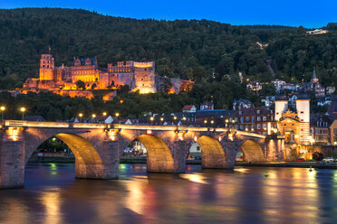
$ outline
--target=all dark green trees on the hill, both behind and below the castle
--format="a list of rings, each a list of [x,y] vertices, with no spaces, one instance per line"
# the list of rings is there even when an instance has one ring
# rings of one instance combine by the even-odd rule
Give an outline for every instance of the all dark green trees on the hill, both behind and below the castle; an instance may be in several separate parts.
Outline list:
[[[274,94],[273,87],[265,86],[256,96],[246,89],[246,79],[309,81],[313,68],[323,86],[337,85],[336,23],[325,27],[330,33],[307,35],[303,27],[135,20],[77,9],[24,8],[0,10],[0,27],[0,89],[21,88],[26,78],[37,77],[40,54],[49,46],[57,66],[71,65],[74,56],[97,57],[101,67],[117,61],[156,61],[159,75],[196,81],[193,91],[179,95],[166,93],[168,83],[159,94],[146,96],[128,94],[125,86],[118,98],[106,104],[98,97],[90,101],[32,93],[11,98],[1,93],[0,103],[13,107],[12,117],[21,104],[30,107],[28,113],[50,120],[97,109],[140,117],[147,111],[179,111],[184,104],[199,105],[203,100],[229,109],[234,98],[248,98],[260,106],[262,97]],[[256,42],[269,45],[261,49]],[[125,103],[120,105],[119,98]]]

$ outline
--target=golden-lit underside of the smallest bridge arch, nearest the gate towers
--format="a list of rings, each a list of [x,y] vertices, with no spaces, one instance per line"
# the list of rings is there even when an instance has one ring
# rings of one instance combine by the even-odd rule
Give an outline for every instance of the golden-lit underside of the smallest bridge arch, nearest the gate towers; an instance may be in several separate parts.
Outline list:
[[[237,152],[243,152],[246,162],[265,161],[264,150],[255,140],[246,140]]]

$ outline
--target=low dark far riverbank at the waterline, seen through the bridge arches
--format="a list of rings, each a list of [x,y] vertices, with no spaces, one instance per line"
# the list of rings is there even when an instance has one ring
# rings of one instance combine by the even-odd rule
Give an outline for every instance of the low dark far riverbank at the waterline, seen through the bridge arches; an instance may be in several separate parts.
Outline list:
[[[75,163],[74,158],[63,157],[35,157],[29,160],[29,163]],[[124,157],[120,163],[146,163],[146,158]],[[187,164],[201,165],[201,160],[187,160]],[[246,163],[236,162],[236,166],[258,166],[258,167],[299,167],[299,168],[320,168],[320,169],[337,169],[337,164],[322,164],[315,161],[286,161],[286,162],[260,162]]]

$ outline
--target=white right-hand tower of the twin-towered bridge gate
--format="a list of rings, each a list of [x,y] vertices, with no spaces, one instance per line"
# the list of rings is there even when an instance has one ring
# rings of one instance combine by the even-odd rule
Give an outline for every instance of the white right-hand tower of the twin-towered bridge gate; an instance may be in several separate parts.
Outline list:
[[[300,119],[299,140],[303,145],[310,144],[310,98],[306,93],[300,93],[296,99],[297,117]]]

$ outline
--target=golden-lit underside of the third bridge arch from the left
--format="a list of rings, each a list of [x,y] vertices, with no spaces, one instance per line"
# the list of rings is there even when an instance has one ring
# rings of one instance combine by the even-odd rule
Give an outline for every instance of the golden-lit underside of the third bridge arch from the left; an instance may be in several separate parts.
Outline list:
[[[217,138],[203,135],[197,139],[201,149],[203,168],[226,168],[225,150]]]

